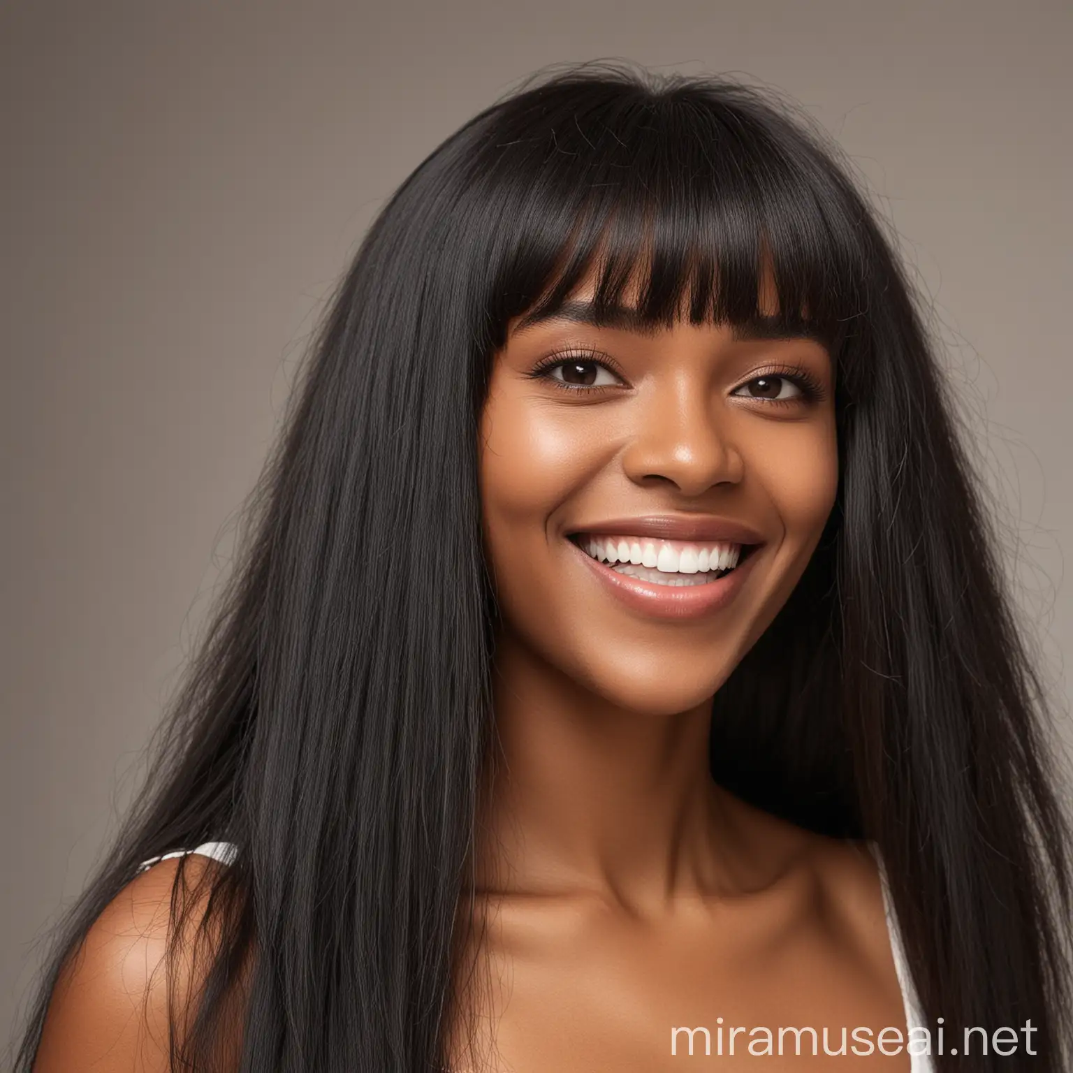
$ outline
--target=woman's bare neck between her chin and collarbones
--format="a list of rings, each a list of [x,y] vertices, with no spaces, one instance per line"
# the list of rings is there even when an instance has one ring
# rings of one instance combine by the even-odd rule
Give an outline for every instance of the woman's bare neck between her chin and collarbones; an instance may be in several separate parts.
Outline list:
[[[710,697],[671,716],[629,710],[503,637],[494,701],[484,890],[636,905],[724,885],[735,806],[709,774]]]

